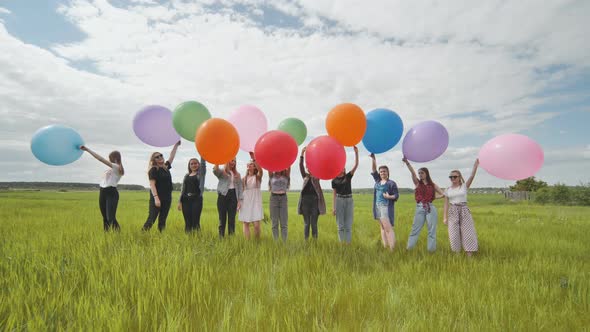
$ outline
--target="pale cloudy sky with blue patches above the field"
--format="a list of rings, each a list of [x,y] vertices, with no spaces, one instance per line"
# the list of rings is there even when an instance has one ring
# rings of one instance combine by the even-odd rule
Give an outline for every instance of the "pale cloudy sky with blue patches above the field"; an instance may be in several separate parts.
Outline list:
[[[221,118],[256,105],[271,129],[298,117],[308,139],[343,102],[392,109],[406,129],[439,121],[448,150],[416,166],[442,185],[450,169],[469,174],[487,140],[520,133],[544,149],[537,177],[588,183],[588,17],[585,0],[0,0],[0,181],[98,182],[104,167],[89,155],[62,167],[32,155],[35,131],[60,123],[103,155],[120,150],[121,183],[147,186],[155,149],[135,137],[133,116],[197,100]],[[400,145],[378,162],[411,187]],[[175,182],[195,154],[183,141]],[[369,168],[361,144],[354,187],[372,186]],[[474,186],[512,183],[480,169]]]

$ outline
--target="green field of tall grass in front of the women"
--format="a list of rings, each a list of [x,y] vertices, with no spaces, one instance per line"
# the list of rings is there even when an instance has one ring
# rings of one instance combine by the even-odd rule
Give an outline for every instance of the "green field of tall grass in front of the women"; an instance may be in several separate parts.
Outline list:
[[[175,197],[177,197],[175,193]],[[353,243],[321,216],[303,241],[290,194],[289,240],[217,238],[214,193],[202,232],[142,233],[147,193],[121,192],[120,233],[104,233],[97,192],[0,193],[0,329],[521,330],[590,326],[590,208],[470,196],[480,252],[450,252],[439,208],[438,249],[405,245],[413,202],[396,206],[396,249],[381,246],[370,195],[355,196]],[[265,194],[265,211],[268,196]],[[331,193],[326,194],[331,211]]]

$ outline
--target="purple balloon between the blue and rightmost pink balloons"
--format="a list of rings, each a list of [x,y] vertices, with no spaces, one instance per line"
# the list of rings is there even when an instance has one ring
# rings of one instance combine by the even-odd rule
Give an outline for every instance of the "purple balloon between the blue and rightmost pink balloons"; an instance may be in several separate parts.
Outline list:
[[[402,150],[408,160],[423,163],[440,157],[448,146],[447,129],[436,121],[424,121],[406,133]]]

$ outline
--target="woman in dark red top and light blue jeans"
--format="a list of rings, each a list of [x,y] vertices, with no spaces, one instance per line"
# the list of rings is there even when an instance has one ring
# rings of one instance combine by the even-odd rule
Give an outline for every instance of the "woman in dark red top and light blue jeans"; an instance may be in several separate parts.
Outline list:
[[[430,178],[428,168],[422,167],[418,169],[418,176],[416,176],[416,172],[408,159],[404,157],[402,161],[406,164],[408,170],[410,170],[412,182],[416,186],[414,190],[416,211],[414,213],[414,222],[412,223],[412,231],[408,239],[407,249],[411,250],[416,246],[418,236],[426,221],[428,227],[427,248],[428,251],[434,252],[436,250],[436,223],[438,215],[436,213],[436,207],[432,202],[435,198],[443,197],[444,193]],[[437,193],[440,195],[439,197],[436,197]]]

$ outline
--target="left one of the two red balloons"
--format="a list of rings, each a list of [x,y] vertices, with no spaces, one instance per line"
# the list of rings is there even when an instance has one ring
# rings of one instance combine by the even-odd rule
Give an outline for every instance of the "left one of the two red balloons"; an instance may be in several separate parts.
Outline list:
[[[288,133],[271,130],[260,136],[254,155],[260,167],[278,172],[289,168],[297,159],[297,142]]]

